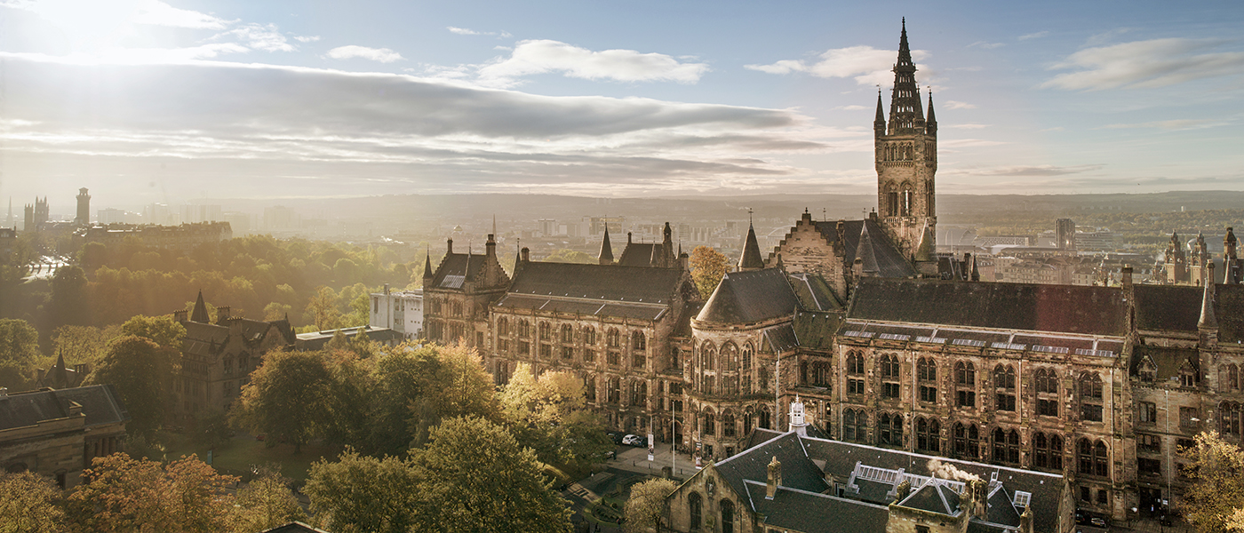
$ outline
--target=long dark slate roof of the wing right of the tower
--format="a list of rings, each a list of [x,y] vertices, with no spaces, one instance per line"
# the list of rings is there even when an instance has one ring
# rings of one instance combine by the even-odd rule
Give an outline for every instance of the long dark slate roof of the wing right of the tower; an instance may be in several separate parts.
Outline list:
[[[848,319],[1123,337],[1126,294],[1113,287],[863,278]]]

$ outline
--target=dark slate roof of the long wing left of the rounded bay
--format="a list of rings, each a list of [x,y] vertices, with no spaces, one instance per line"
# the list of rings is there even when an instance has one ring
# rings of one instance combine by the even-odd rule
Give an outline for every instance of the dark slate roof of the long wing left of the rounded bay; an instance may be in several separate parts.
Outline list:
[[[680,268],[526,262],[495,306],[657,319],[668,313],[682,276]]]

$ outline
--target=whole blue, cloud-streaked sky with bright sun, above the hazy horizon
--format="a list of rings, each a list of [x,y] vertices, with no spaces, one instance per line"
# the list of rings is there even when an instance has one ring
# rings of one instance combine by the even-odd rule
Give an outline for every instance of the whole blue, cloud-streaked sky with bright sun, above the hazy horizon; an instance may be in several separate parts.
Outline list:
[[[1233,1],[0,0],[0,201],[1244,190]],[[2,207],[0,207],[2,209]]]

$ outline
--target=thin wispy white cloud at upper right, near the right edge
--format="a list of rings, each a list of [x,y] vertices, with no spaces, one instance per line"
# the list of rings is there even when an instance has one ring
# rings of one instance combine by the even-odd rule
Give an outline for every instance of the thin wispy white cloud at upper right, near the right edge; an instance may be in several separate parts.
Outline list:
[[[1085,48],[1052,70],[1077,70],[1055,76],[1041,87],[1101,91],[1151,88],[1193,80],[1244,73],[1244,52],[1203,52],[1225,41],[1154,39]]]

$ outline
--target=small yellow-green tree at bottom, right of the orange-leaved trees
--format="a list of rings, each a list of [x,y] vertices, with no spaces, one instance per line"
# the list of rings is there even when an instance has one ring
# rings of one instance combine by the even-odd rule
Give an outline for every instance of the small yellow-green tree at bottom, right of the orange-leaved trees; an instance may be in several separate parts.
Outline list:
[[[238,491],[228,523],[231,533],[258,533],[306,519],[307,513],[290,491],[290,480],[277,470],[264,468]]]

